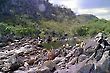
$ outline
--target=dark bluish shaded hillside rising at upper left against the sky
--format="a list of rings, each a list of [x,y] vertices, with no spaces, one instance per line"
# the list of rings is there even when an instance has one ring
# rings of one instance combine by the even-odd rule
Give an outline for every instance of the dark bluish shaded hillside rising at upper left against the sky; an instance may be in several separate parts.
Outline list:
[[[26,14],[34,19],[62,19],[64,17],[75,17],[70,9],[54,7],[46,0],[7,0],[1,1],[0,16],[3,18],[16,17],[16,15]],[[62,14],[62,16],[60,16]]]

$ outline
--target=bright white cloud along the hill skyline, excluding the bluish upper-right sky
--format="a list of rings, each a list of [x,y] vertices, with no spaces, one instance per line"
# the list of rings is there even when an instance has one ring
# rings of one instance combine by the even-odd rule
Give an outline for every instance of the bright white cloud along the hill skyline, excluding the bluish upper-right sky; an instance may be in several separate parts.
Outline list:
[[[82,9],[78,0],[50,0],[50,2],[71,8],[76,14],[93,14],[98,18],[110,19],[110,8]]]

